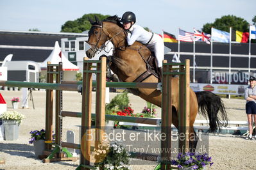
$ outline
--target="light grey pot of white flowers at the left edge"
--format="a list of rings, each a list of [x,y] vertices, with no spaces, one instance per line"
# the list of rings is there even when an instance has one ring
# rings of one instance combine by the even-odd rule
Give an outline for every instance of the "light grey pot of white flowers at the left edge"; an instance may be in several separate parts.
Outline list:
[[[19,138],[19,125],[25,116],[17,111],[7,111],[0,115],[4,124],[5,140],[13,141]]]

